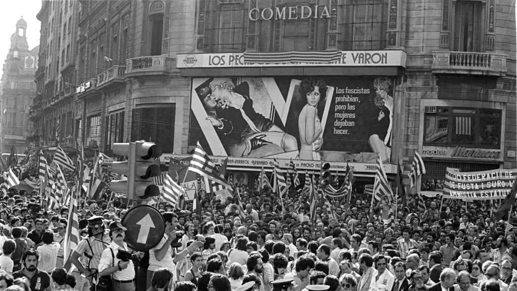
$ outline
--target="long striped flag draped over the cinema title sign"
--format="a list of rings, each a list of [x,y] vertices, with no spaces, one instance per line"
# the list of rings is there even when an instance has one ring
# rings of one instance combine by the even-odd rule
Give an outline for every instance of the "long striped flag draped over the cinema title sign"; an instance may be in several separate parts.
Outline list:
[[[244,52],[245,63],[336,63],[341,51]]]

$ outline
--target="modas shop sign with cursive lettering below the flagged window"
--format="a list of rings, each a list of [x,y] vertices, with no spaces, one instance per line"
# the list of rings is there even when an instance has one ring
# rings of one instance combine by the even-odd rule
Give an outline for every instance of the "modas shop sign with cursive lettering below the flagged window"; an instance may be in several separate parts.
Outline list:
[[[458,159],[482,159],[487,161],[503,161],[500,149],[478,149],[466,147],[423,146],[422,157],[443,157]]]

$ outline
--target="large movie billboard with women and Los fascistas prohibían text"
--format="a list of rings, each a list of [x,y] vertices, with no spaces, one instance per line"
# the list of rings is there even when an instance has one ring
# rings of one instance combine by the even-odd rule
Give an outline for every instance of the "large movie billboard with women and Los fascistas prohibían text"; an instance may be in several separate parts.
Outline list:
[[[387,77],[193,78],[189,152],[388,162],[392,96]]]

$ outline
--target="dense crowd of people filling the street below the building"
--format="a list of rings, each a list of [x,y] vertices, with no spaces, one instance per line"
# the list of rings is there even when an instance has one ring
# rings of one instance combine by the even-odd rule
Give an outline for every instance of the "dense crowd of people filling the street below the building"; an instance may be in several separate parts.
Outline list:
[[[0,291],[517,291],[513,215],[495,221],[490,201],[439,197],[422,209],[407,195],[386,220],[357,184],[349,202],[320,199],[314,221],[302,186],[282,201],[247,185],[224,201],[201,191],[199,212],[160,203],[165,234],[148,252],[126,243],[127,203],[109,193],[81,199],[82,239],[68,251],[68,207],[11,189],[0,202]]]

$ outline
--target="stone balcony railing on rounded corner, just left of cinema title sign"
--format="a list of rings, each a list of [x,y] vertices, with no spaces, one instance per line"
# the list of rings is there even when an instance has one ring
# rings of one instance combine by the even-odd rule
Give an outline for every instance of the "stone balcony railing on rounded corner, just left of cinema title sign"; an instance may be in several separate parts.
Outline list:
[[[126,60],[126,75],[168,75],[176,70],[176,60],[165,55],[133,57]]]

